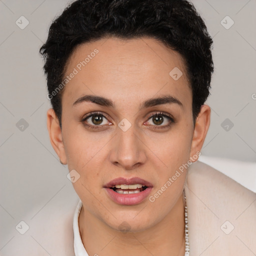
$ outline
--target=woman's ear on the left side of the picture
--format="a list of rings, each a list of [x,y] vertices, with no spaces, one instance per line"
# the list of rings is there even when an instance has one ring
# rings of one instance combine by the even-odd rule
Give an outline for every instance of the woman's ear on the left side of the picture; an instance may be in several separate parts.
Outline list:
[[[59,126],[58,118],[52,108],[47,111],[47,129],[50,143],[59,157],[62,164],[66,164],[66,154],[62,140],[62,132]]]

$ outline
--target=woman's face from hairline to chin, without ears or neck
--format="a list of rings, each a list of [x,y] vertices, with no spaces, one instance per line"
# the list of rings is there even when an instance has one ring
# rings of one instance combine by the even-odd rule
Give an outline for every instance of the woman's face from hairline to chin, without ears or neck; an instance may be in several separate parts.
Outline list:
[[[181,56],[149,37],[104,38],[75,49],[65,70],[70,73],[55,150],[79,176],[73,187],[84,210],[116,230],[123,221],[130,231],[155,225],[182,193],[186,169],[173,175],[201,146],[192,144],[192,93]],[[128,195],[105,187],[119,177],[150,185],[146,193]]]

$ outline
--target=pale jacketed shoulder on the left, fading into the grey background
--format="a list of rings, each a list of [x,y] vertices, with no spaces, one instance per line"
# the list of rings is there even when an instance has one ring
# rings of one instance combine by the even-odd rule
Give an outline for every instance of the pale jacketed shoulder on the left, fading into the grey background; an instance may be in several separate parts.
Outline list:
[[[65,190],[65,191],[64,191]],[[71,188],[62,190],[48,202],[34,205],[20,220],[14,220],[7,237],[11,240],[1,250],[4,255],[74,255],[73,216],[79,201]],[[27,228],[23,234],[18,230]]]

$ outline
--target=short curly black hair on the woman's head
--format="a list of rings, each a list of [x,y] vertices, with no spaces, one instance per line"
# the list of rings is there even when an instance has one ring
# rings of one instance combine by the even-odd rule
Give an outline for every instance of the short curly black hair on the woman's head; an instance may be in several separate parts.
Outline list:
[[[115,36],[150,36],[184,59],[192,90],[193,121],[207,99],[213,61],[212,39],[204,21],[187,0],[76,0],[51,23],[40,47],[49,94],[63,80],[72,51],[81,43]],[[50,101],[61,127],[61,95]],[[49,95],[48,94],[48,95]]]

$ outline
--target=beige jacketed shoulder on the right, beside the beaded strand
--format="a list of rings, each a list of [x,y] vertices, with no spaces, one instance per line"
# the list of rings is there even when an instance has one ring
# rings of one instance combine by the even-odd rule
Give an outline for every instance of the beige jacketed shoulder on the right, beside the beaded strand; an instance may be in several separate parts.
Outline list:
[[[187,170],[185,192],[192,255],[256,252],[256,193],[200,161]]]

